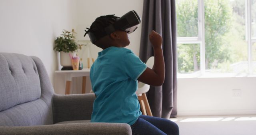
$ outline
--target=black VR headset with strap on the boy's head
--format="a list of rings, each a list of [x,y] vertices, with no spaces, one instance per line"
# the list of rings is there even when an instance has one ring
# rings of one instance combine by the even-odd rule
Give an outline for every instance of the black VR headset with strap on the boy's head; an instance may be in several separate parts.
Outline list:
[[[95,44],[97,40],[103,38],[106,35],[110,35],[112,32],[115,32],[116,30],[123,30],[130,34],[138,28],[140,22],[140,16],[134,10],[131,10],[130,12],[124,14],[122,17],[116,18],[116,22],[104,28],[103,33],[88,32],[88,35],[92,44]],[[84,36],[85,35],[86,34],[84,34]]]

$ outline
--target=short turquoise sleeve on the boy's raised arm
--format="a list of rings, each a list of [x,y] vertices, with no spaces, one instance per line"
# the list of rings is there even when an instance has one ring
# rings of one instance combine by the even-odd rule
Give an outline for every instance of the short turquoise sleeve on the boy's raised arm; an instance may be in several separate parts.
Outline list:
[[[126,52],[123,62],[124,73],[133,80],[137,80],[147,68],[146,64],[132,51]]]

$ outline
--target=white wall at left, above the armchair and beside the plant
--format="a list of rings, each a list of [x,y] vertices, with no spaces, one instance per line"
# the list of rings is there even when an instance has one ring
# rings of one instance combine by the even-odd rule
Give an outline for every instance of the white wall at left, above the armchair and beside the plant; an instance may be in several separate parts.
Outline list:
[[[1,0],[0,52],[39,57],[53,82],[54,39],[74,26],[75,6],[73,0]]]

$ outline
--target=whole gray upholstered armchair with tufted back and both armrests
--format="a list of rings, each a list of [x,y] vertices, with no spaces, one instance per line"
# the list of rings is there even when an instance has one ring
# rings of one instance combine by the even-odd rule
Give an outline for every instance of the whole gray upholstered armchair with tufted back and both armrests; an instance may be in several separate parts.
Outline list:
[[[0,53],[0,135],[131,135],[125,123],[90,123],[95,95],[54,93],[42,61]]]

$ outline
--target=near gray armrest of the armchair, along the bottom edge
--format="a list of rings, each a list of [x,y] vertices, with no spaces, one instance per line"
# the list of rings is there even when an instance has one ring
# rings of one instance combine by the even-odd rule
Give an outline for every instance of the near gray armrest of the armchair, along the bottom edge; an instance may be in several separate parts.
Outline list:
[[[126,123],[72,123],[25,127],[1,127],[1,135],[132,135]]]

